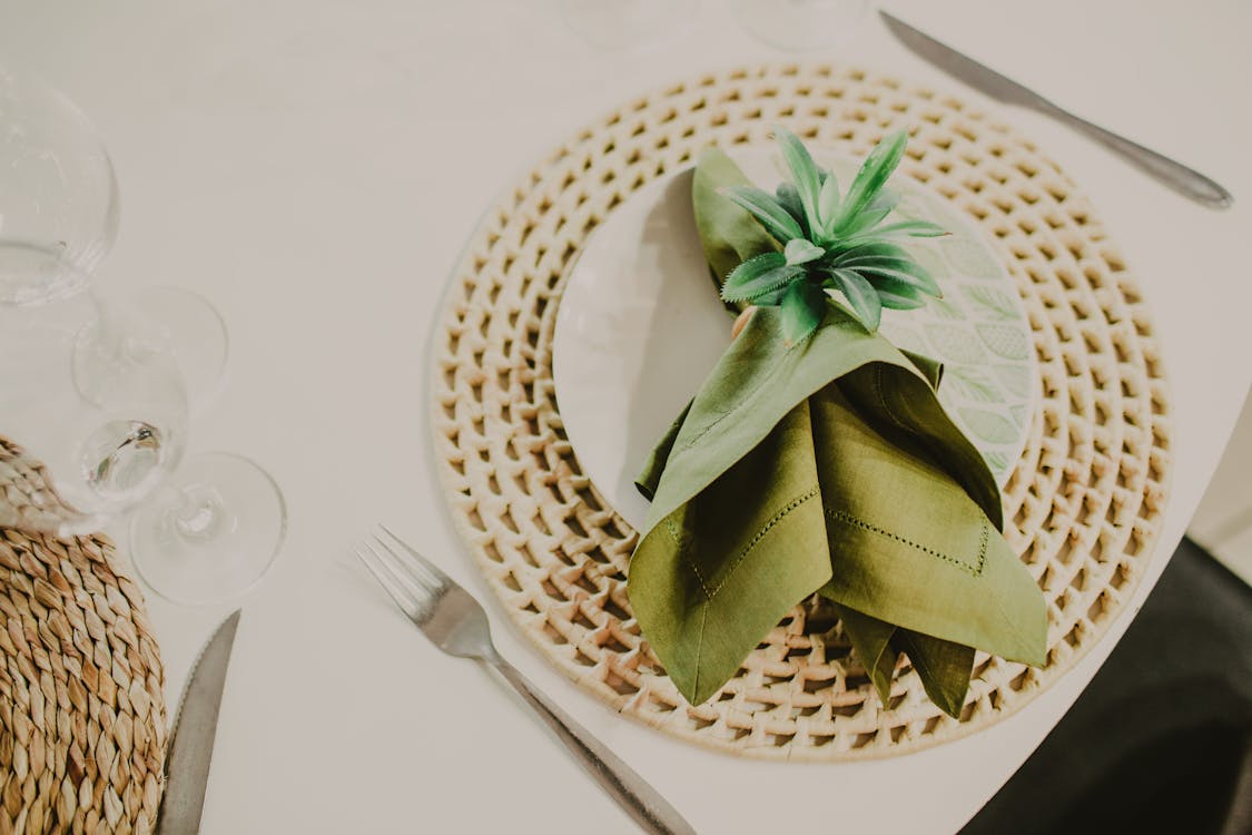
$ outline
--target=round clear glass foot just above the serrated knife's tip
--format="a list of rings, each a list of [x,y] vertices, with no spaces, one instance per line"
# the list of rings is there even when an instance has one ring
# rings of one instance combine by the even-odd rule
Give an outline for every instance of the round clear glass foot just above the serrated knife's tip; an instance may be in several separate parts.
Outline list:
[[[130,520],[130,556],[162,597],[190,606],[252,591],[287,535],[287,506],[269,474],[239,456],[198,456]]]

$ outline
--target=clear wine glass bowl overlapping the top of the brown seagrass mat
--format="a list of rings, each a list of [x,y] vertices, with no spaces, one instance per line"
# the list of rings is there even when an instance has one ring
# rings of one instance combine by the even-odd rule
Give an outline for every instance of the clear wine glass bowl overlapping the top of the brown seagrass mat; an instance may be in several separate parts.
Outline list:
[[[4,525],[100,528],[178,464],[187,422],[178,366],[124,304],[0,305],[0,433],[24,451],[0,471]]]

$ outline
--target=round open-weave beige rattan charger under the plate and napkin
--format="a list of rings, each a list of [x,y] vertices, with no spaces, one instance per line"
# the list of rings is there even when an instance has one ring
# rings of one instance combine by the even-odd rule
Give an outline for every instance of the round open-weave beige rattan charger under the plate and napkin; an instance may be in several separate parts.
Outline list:
[[[552,386],[555,312],[592,229],[709,144],[770,144],[781,124],[900,166],[968,212],[1003,257],[1034,334],[1038,411],[1004,489],[1005,536],[1048,600],[1048,665],[980,653],[960,721],[901,661],[874,694],[831,610],[798,606],[704,705],[640,636],[626,597],[637,532],[578,469]],[[1142,293],[1089,202],[1010,128],[957,98],[859,69],[767,65],[675,84],[558,148],[492,207],[456,268],[436,334],[433,432],[452,516],[522,631],[616,710],[667,734],[770,759],[915,750],[1020,709],[1124,608],[1157,536],[1171,426]]]

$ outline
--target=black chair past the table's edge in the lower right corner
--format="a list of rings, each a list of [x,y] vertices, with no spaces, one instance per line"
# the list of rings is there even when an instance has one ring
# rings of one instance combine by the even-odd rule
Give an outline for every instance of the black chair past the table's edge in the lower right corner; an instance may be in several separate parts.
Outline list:
[[[1252,834],[1252,587],[1183,540],[1121,643],[962,835]]]

